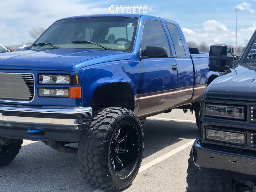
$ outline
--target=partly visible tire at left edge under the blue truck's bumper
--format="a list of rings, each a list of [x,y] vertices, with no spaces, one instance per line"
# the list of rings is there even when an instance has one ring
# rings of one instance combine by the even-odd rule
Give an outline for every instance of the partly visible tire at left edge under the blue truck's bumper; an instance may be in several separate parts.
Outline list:
[[[8,165],[18,155],[23,141],[9,145],[0,144],[0,167]]]

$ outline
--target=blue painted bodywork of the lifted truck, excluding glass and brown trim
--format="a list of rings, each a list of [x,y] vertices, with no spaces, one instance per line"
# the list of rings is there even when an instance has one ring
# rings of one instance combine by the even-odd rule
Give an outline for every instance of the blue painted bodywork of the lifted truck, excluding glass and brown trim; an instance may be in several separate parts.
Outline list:
[[[33,73],[35,76],[35,99],[30,103],[20,102],[16,104],[85,107],[90,106],[94,91],[108,83],[126,82],[131,86],[133,95],[139,95],[206,84],[211,75],[219,75],[215,72],[209,72],[208,54],[189,54],[182,30],[174,21],[138,14],[86,15],[65,19],[84,17],[139,18],[133,51],[60,48],[0,54],[0,72],[26,72]],[[146,19],[162,22],[173,57],[144,59],[139,57],[143,26]],[[176,57],[172,38],[165,22],[172,23],[177,27],[184,45],[185,57]],[[177,70],[173,70],[172,65],[176,65]],[[82,98],[38,97],[38,87],[53,87],[50,85],[38,85],[38,73],[78,74],[79,85],[73,87],[81,87]],[[192,95],[189,97],[192,97]],[[0,104],[3,103],[12,104],[12,102],[1,102]]]

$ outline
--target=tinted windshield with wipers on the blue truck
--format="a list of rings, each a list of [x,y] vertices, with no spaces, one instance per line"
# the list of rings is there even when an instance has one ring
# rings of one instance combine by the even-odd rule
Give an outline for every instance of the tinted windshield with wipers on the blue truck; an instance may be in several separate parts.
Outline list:
[[[34,43],[48,43],[59,48],[104,49],[91,41],[114,50],[131,52],[136,36],[138,19],[128,17],[90,17],[55,22]],[[36,45],[30,49],[52,49],[49,45]]]

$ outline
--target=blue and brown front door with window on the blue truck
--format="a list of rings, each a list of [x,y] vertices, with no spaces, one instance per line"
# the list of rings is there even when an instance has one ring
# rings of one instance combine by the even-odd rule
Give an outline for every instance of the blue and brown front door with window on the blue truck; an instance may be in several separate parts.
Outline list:
[[[177,66],[161,21],[146,20],[141,50],[146,46],[165,47],[167,58],[142,58],[139,63],[138,116],[172,108],[177,98]]]

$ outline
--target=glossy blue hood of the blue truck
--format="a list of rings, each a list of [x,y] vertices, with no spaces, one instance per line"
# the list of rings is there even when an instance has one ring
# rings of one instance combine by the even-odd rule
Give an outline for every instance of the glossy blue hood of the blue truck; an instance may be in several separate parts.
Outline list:
[[[101,58],[104,62],[113,61],[113,55],[122,55],[118,60],[124,59],[126,53],[101,49],[48,49],[14,51],[0,54],[0,69],[29,69],[29,70],[56,70],[69,71],[79,62]],[[109,57],[106,57],[109,56]],[[102,58],[106,57],[106,59]],[[127,58],[129,59],[129,58]],[[86,66],[93,63],[86,62]],[[83,66],[83,67],[86,67]]]

